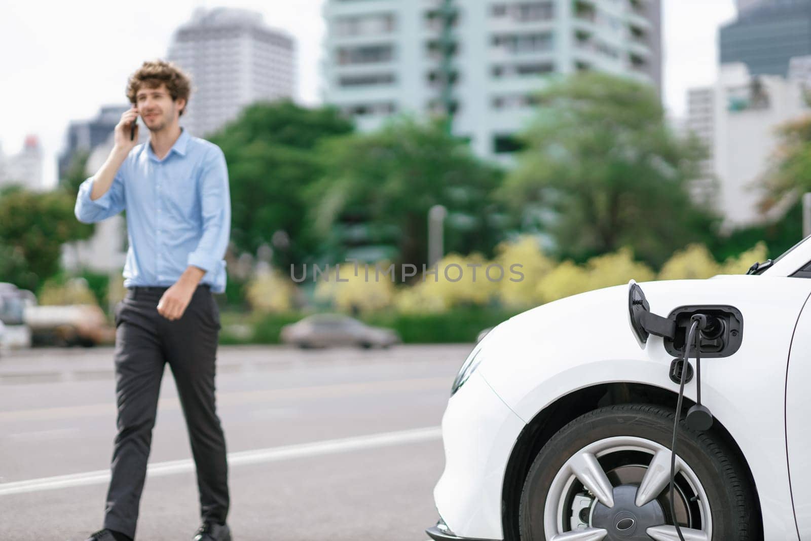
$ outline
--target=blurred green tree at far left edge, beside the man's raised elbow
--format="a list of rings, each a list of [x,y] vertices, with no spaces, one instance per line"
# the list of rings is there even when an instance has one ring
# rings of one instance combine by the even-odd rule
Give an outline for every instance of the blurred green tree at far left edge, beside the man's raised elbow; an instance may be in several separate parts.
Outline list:
[[[62,244],[88,238],[92,227],[73,213],[63,191],[12,187],[0,194],[0,281],[36,290],[59,270]]]

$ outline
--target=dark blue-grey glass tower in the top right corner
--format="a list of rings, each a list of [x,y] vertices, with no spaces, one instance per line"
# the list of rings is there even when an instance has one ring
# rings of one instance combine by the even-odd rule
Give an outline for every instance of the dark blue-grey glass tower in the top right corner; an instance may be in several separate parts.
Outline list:
[[[738,9],[720,29],[720,63],[785,77],[790,58],[811,54],[811,0],[739,0]]]

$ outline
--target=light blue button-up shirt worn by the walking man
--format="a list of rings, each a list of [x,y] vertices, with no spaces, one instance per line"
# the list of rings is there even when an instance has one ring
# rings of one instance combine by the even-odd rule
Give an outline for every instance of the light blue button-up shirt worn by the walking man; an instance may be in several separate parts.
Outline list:
[[[133,148],[95,201],[93,181],[79,187],[76,217],[92,223],[127,210],[124,286],[171,286],[194,265],[205,271],[200,283],[225,291],[231,201],[225,157],[216,144],[184,129],[162,160],[151,144]]]

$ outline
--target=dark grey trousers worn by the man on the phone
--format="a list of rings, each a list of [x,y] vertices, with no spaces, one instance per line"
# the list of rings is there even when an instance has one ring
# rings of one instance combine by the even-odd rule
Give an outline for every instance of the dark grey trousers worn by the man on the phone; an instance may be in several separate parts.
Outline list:
[[[204,522],[225,522],[228,466],[214,399],[220,315],[208,286],[195,290],[179,320],[157,312],[165,287],[132,288],[116,307],[118,436],[107,492],[105,528],[135,538],[164,364],[174,376],[197,467]]]

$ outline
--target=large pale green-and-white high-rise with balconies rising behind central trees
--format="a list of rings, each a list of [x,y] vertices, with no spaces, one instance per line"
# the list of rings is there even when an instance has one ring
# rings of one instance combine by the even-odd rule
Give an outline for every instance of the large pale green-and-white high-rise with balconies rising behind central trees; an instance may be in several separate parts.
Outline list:
[[[515,149],[550,74],[661,81],[659,0],[328,0],[324,101],[362,130],[448,112],[493,157]]]

